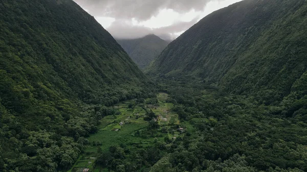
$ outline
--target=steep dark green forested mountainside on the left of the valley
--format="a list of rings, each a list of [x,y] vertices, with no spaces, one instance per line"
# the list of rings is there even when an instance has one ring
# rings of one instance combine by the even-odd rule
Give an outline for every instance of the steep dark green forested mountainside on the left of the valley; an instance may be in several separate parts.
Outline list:
[[[74,163],[105,106],[145,96],[149,81],[71,0],[0,2],[0,171]]]

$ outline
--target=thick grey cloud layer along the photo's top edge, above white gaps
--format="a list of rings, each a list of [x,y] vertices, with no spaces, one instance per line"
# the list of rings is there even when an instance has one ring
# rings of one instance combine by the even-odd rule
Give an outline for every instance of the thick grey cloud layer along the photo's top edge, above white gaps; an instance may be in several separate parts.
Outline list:
[[[94,16],[147,20],[161,9],[179,13],[203,10],[210,0],[74,0]],[[216,0],[220,1],[220,0]]]

